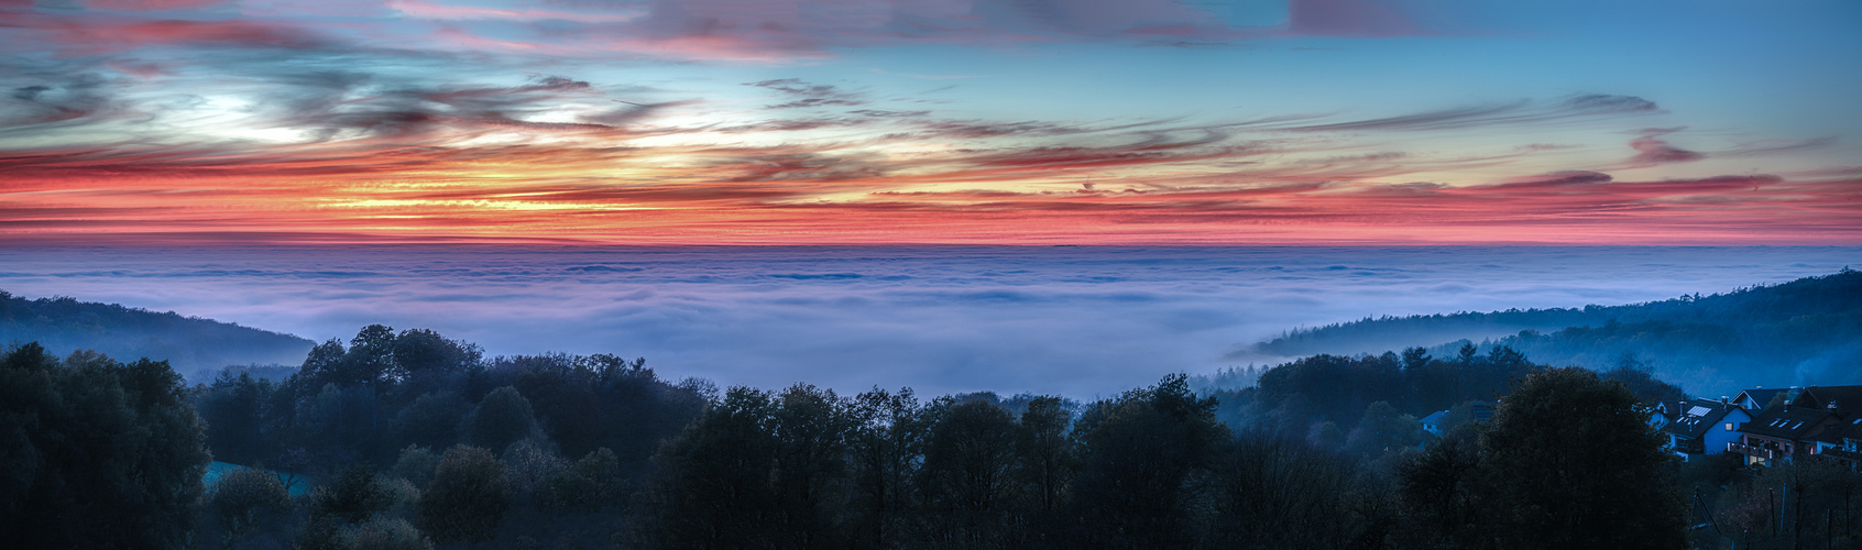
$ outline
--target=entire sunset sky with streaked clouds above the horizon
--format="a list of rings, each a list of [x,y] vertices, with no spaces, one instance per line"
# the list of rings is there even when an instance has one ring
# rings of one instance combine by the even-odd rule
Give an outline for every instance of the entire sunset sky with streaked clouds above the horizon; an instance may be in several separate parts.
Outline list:
[[[1862,4],[0,0],[0,243],[1858,245]]]

